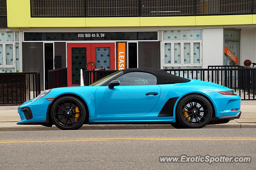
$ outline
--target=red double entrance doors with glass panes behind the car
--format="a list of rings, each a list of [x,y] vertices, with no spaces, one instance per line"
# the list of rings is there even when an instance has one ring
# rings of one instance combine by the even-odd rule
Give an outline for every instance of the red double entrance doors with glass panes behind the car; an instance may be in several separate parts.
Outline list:
[[[68,86],[80,85],[80,69],[115,69],[115,43],[67,43]]]

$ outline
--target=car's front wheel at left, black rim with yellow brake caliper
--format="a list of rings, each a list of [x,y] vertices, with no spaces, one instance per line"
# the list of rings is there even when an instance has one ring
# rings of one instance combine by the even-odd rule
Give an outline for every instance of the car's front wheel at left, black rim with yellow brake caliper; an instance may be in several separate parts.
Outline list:
[[[77,130],[86,119],[86,108],[80,99],[64,96],[52,105],[51,119],[52,123],[62,130]]]

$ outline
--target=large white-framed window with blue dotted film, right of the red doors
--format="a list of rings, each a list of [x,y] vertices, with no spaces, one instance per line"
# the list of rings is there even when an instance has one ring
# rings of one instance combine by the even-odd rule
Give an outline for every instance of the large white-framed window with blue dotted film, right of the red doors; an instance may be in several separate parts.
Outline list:
[[[163,67],[200,65],[201,43],[202,30],[163,30]]]

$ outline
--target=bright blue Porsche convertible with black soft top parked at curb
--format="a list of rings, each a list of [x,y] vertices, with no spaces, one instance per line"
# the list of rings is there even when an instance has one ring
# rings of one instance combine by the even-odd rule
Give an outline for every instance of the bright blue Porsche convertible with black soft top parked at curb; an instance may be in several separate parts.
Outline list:
[[[241,99],[222,85],[160,69],[124,69],[84,87],[46,90],[18,108],[18,125],[74,130],[83,124],[202,128],[239,118]]]

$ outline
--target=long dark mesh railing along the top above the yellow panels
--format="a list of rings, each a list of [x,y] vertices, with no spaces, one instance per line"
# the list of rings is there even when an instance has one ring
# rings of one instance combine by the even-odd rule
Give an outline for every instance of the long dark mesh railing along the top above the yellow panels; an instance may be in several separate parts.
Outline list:
[[[255,14],[255,0],[30,0],[31,17]]]

